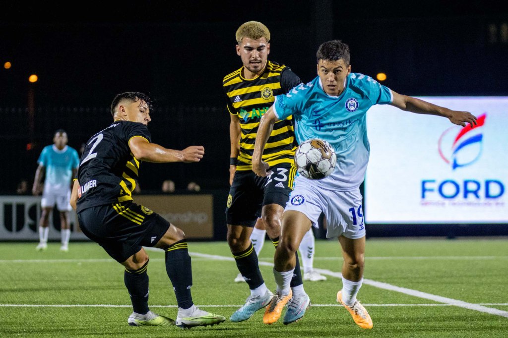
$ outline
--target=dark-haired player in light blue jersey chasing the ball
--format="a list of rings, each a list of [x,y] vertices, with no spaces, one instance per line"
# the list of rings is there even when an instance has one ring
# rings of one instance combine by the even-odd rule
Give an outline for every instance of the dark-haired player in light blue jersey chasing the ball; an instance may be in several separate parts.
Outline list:
[[[342,290],[340,302],[362,328],[372,328],[372,320],[356,299],[363,282],[365,226],[360,184],[369,160],[366,113],[373,105],[392,105],[401,110],[447,117],[454,124],[476,124],[469,112],[452,111],[415,97],[401,95],[363,74],[351,73],[349,47],[339,40],[322,44],[317,50],[317,77],[285,95],[261,119],[252,155],[252,170],[267,176],[262,161],[268,135],[274,123],[293,115],[300,144],[320,138],[333,145],[337,154],[334,172],[322,180],[302,176],[295,179],[282,216],[279,245],[275,251],[273,273],[277,294],[284,294],[295,267],[295,251],[311,226],[318,226],[323,212],[327,219],[327,238],[337,237],[342,248]],[[389,173],[387,173],[389,175]]]

